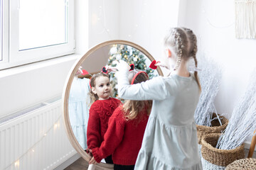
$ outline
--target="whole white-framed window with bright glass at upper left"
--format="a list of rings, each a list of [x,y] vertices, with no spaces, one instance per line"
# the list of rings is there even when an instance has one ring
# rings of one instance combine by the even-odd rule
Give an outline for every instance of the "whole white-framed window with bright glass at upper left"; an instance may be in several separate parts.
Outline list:
[[[0,69],[74,52],[73,0],[0,1],[6,1],[1,7],[9,13],[9,17],[2,15],[3,20],[9,22],[7,26],[7,22],[1,25],[9,27],[6,29],[9,33],[5,29],[3,33],[9,36],[1,38],[4,40],[3,49],[7,48],[8,54],[2,55]]]

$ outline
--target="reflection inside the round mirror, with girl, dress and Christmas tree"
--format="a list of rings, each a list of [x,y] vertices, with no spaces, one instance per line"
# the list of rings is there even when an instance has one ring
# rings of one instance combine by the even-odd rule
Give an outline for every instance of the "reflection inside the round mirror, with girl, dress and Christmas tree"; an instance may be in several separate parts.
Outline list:
[[[78,70],[76,70],[68,98],[70,128],[73,130],[73,135],[83,150],[95,147],[94,145],[99,145],[98,143],[94,143],[95,139],[93,137],[97,138],[97,142],[102,142],[103,136],[107,130],[107,121],[110,115],[112,115],[114,109],[116,109],[120,103],[124,102],[122,98],[118,96],[115,72],[112,72],[111,69],[107,69],[107,74],[102,73],[103,67],[115,67],[116,62],[119,60],[134,64],[134,69],[144,71],[149,79],[159,75],[156,70],[149,68],[152,59],[149,60],[143,52],[129,45],[106,45],[87,56]],[[97,77],[96,75],[99,75],[99,77],[96,79],[92,78]],[[102,88],[104,87],[104,90],[101,91],[100,86],[96,86],[99,84]],[[95,102],[95,98],[97,102]],[[95,104],[92,105],[92,103]],[[91,114],[90,111],[95,111],[97,108],[100,108],[97,105],[106,106],[105,111],[101,111],[102,116],[108,116],[108,118],[105,119],[107,120],[105,123],[103,123],[100,118],[89,118]],[[90,110],[91,107],[94,109]],[[98,127],[100,127],[100,129]],[[87,132],[93,134],[92,138],[89,137],[90,134],[87,134]],[[108,161],[108,159],[102,159],[102,162],[112,163],[111,157],[109,159],[110,161]]]

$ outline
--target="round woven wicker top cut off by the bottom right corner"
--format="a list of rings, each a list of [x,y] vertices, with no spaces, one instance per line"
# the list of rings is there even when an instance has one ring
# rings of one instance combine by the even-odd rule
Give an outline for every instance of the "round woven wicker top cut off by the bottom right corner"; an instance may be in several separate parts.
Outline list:
[[[246,158],[246,159],[239,159],[232,164],[229,164],[226,167],[226,170],[252,170],[256,169],[256,159],[254,158]]]

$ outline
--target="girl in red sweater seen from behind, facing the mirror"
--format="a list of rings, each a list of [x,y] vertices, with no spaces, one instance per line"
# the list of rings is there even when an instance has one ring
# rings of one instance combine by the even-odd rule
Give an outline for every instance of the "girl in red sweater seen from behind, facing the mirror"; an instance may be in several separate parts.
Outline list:
[[[146,72],[129,72],[130,84],[148,80]],[[142,138],[151,111],[152,101],[124,102],[111,116],[104,141],[100,147],[91,149],[93,157],[89,164],[100,162],[112,154],[114,169],[134,169],[134,165],[142,146]]]

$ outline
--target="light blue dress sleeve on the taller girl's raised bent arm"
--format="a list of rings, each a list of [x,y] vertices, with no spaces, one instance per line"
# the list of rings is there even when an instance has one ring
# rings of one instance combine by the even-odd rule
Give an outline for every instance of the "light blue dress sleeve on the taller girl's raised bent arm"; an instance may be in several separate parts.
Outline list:
[[[128,73],[120,72],[117,77],[118,95],[128,100],[164,100],[167,96],[163,77],[154,77],[140,84],[129,84]]]

